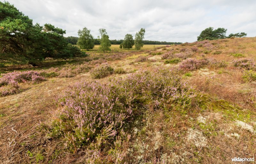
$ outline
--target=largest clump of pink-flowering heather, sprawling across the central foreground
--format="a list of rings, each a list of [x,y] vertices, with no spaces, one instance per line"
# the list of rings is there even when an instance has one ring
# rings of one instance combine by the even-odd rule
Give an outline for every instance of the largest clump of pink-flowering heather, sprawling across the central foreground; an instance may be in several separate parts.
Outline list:
[[[164,71],[140,71],[107,84],[80,82],[59,99],[60,114],[50,130],[75,147],[109,143],[131,130],[143,110],[170,104],[186,109],[195,96],[180,77]]]

